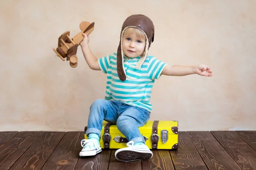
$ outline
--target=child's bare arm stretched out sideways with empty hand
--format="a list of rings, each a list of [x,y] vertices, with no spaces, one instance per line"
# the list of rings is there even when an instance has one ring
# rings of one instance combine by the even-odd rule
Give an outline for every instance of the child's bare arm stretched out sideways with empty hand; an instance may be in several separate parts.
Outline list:
[[[183,65],[166,65],[162,71],[163,75],[166,76],[186,76],[189,74],[198,74],[201,76],[212,76],[212,71],[207,65],[191,65],[191,66],[183,66]]]

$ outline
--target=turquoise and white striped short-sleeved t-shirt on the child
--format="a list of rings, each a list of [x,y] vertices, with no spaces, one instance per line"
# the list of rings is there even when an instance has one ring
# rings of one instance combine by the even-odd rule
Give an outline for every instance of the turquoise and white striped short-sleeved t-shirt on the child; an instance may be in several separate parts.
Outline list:
[[[124,57],[126,80],[122,82],[117,74],[116,53],[98,59],[100,69],[107,74],[106,100],[122,101],[128,105],[152,111],[151,90],[166,63],[148,56],[140,69],[135,65],[140,57]]]

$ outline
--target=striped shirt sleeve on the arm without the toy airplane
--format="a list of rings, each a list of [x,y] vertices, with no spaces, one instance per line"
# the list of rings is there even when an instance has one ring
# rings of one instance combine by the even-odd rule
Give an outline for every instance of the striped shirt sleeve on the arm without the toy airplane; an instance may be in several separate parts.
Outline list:
[[[148,62],[148,77],[152,80],[159,79],[163,68],[166,65],[167,64],[165,62],[162,62],[159,59],[152,57]]]

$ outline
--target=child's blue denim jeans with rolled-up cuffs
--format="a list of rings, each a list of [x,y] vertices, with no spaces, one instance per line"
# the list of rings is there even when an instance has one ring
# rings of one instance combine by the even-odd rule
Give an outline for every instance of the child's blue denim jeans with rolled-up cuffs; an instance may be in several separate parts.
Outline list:
[[[102,122],[105,120],[116,124],[118,130],[128,141],[145,143],[138,127],[145,125],[149,117],[150,112],[146,109],[127,105],[120,101],[97,99],[90,106],[86,135],[96,133],[100,137]]]

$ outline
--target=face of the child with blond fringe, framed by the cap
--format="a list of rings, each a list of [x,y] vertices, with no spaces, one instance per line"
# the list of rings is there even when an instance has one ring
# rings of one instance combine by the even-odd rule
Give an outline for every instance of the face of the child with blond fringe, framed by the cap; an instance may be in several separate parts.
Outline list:
[[[146,45],[146,37],[138,37],[135,31],[123,35],[122,49],[126,57],[139,57],[143,54]]]

